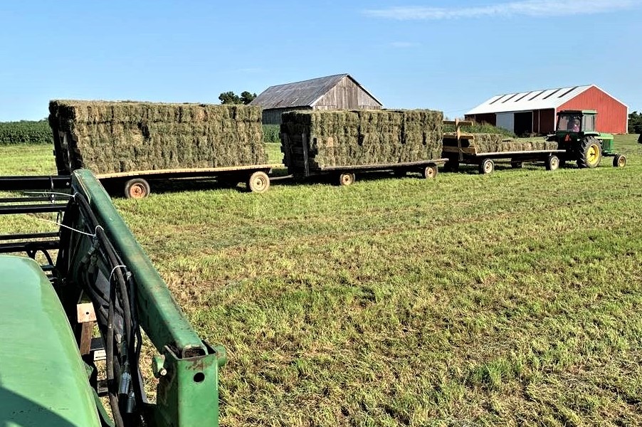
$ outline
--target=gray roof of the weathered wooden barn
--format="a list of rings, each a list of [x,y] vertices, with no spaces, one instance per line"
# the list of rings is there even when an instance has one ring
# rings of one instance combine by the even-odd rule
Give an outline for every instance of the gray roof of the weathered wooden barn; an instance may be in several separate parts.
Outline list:
[[[270,108],[313,107],[323,95],[334,88],[344,77],[352,79],[354,83],[359,85],[357,80],[354,80],[349,74],[328,75],[327,77],[313,78],[302,82],[270,86],[250,102],[250,105],[260,105],[265,110]],[[359,85],[359,88],[362,88],[364,92],[379,102],[362,85]]]

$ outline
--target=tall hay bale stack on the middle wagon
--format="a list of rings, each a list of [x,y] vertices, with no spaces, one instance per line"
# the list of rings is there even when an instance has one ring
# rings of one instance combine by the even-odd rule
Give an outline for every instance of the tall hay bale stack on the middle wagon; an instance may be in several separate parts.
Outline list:
[[[302,135],[311,171],[398,164],[441,157],[443,113],[431,110],[294,111],[282,115],[281,150],[290,173],[303,170]]]

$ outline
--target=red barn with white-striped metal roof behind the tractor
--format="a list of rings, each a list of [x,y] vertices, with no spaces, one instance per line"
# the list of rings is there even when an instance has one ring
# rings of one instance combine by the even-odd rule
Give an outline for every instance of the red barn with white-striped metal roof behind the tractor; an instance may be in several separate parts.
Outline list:
[[[561,110],[596,110],[596,130],[628,131],[628,107],[596,85],[495,95],[466,113],[466,120],[486,122],[517,135],[554,132]]]

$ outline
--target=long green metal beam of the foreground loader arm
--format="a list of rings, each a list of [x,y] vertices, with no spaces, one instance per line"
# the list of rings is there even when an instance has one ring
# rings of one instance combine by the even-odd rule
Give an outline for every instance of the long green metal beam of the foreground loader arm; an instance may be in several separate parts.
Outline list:
[[[88,199],[112,245],[132,272],[137,289],[140,325],[164,359],[154,357],[159,377],[157,426],[218,426],[219,367],[226,362],[223,347],[201,341],[169,293],[152,262],[111,203],[95,176],[73,172],[73,188]]]

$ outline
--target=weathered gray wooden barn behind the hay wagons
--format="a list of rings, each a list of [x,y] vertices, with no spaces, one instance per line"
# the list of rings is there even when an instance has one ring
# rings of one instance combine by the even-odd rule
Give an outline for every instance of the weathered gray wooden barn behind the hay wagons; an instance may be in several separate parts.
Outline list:
[[[281,115],[292,110],[379,110],[382,107],[381,102],[349,74],[270,86],[250,105],[263,107],[264,125],[280,125]]]

